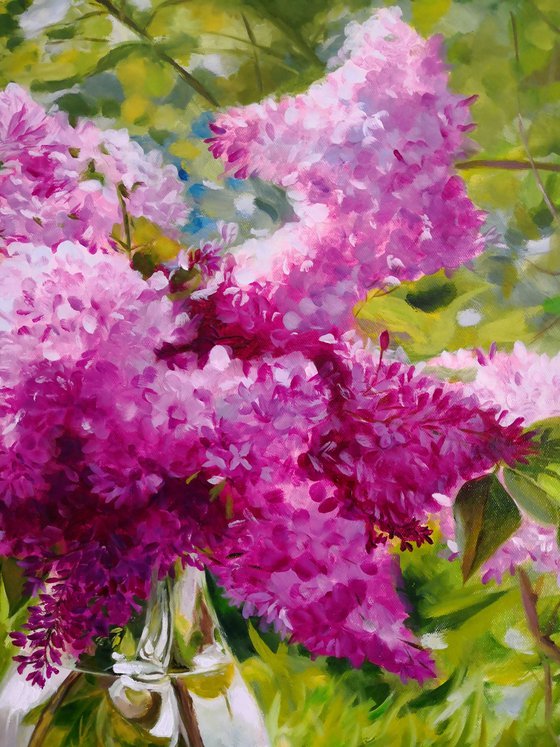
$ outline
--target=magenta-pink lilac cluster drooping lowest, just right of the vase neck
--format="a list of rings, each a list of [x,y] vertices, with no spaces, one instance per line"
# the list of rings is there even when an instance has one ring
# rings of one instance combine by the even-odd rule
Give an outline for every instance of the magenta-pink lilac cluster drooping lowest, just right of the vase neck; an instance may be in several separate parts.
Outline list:
[[[365,525],[321,514],[302,490],[239,520],[211,569],[249,617],[272,624],[314,655],[364,660],[420,682],[434,675],[426,651],[406,627],[396,592],[398,559],[367,552]]]

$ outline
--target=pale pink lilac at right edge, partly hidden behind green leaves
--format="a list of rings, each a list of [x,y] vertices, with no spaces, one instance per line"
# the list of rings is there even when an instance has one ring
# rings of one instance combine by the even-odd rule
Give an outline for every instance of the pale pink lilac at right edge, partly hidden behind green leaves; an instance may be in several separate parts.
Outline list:
[[[468,379],[461,391],[472,393],[484,406],[495,403],[504,411],[504,422],[523,418],[526,427],[540,420],[560,416],[560,354],[550,358],[516,342],[511,353],[481,350],[444,352],[429,362],[430,367],[462,371]],[[441,528],[452,553],[456,553],[455,525],[450,507],[440,513]],[[540,572],[556,573],[560,583],[560,548],[557,530],[540,526],[527,516],[521,527],[484,563],[482,580],[500,583],[518,565],[531,562]]]

